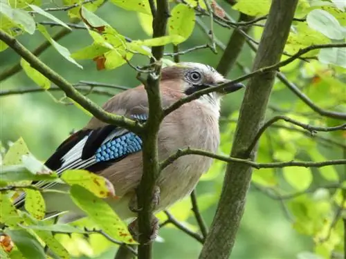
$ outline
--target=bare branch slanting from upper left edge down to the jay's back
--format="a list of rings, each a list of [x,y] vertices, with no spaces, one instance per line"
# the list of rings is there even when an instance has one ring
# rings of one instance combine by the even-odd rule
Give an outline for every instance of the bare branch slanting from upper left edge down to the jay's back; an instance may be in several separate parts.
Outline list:
[[[42,73],[42,75],[61,88],[67,97],[70,97],[75,102],[80,104],[96,118],[100,119],[102,122],[122,126],[127,128],[129,131],[133,131],[134,133],[140,133],[143,126],[141,126],[138,122],[134,122],[133,120],[127,119],[124,116],[114,115],[104,111],[100,106],[78,92],[78,90],[76,90],[73,85],[69,83],[69,81],[66,81],[66,79],[55,73],[54,70],[46,66],[46,64],[35,57],[35,55],[33,55],[30,50],[25,48],[19,41],[17,41],[17,39],[8,35],[6,32],[3,32],[3,30],[0,30],[0,39],[4,41],[10,48],[15,50],[19,56],[28,61],[30,66],[35,68],[37,71]]]

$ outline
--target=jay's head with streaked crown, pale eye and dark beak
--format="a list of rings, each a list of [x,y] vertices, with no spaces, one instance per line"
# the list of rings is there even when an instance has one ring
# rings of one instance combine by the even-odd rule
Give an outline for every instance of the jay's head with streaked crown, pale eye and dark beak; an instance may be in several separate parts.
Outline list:
[[[161,80],[179,82],[179,84],[172,85],[172,88],[183,92],[185,95],[192,95],[199,90],[223,84],[224,88],[221,90],[199,97],[199,100],[202,102],[217,106],[219,106],[219,101],[223,95],[233,93],[244,87],[244,84],[234,84],[232,81],[224,78],[215,68],[194,62],[181,62],[163,68]]]

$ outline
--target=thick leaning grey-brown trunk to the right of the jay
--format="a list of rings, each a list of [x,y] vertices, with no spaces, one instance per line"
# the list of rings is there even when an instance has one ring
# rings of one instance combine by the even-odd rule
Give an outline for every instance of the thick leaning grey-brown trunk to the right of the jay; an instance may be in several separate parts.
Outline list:
[[[280,58],[289,36],[297,3],[298,0],[272,1],[253,70],[268,67],[276,69],[277,64],[281,63]],[[267,70],[262,75],[259,73],[253,76],[248,82],[233,140],[232,157],[251,157],[251,160],[255,157],[255,152],[248,154],[246,151],[264,119],[274,79],[275,71]],[[228,163],[217,212],[199,259],[229,258],[244,212],[251,173],[251,164]],[[222,238],[219,238],[220,236]]]

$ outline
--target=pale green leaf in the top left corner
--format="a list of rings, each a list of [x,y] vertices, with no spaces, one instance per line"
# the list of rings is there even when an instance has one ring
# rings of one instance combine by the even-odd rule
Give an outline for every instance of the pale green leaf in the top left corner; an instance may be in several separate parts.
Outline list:
[[[13,9],[6,1],[0,1],[0,13],[8,17],[8,19],[14,23],[19,24],[30,35],[34,34],[36,23],[28,12],[21,9]]]

